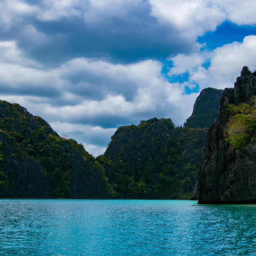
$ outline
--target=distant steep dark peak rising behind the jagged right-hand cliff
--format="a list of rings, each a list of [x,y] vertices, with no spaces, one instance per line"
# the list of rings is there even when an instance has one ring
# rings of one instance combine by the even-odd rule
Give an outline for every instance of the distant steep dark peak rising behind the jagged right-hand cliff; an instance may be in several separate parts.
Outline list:
[[[219,119],[219,101],[223,90],[205,88],[196,98],[193,112],[184,124],[190,128],[210,127],[215,118]]]

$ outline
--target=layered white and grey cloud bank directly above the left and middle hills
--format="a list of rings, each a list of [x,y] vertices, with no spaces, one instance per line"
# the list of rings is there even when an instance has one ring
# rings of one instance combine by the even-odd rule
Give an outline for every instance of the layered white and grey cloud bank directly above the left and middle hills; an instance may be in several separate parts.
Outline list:
[[[159,61],[121,65],[76,58],[45,69],[27,65],[29,59],[14,41],[2,41],[1,47],[0,98],[40,115],[60,135],[67,134],[90,148],[94,145],[95,152],[102,152],[103,144],[123,124],[138,124],[154,116],[183,123],[197,96],[183,95],[182,84],[169,83]],[[91,96],[84,91],[87,87]]]

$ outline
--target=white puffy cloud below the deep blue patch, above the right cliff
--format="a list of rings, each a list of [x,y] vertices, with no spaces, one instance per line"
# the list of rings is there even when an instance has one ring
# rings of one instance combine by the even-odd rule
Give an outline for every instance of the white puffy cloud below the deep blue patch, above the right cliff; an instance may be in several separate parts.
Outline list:
[[[189,62],[192,56],[195,61]],[[189,70],[189,82],[199,84],[200,89],[233,87],[243,66],[248,66],[252,72],[256,70],[256,36],[246,36],[241,43],[226,44],[211,52],[177,55],[171,60],[174,61],[174,67],[170,69],[170,74]],[[206,60],[210,61],[208,69],[202,67]],[[181,65],[182,61],[184,66]]]

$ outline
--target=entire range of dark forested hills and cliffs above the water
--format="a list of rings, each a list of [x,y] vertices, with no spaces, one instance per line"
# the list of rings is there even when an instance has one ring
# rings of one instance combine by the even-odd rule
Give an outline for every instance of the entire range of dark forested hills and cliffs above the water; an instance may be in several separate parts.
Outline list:
[[[152,118],[119,127],[96,158],[0,101],[0,197],[255,201],[254,75],[243,67],[234,88],[202,90],[183,126]]]

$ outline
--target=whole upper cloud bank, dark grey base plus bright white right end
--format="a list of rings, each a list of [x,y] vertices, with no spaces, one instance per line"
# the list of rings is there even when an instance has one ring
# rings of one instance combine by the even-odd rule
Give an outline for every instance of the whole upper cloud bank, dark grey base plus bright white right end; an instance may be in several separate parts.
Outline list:
[[[0,40],[17,41],[48,66],[80,57],[133,63],[187,55],[202,47],[198,36],[227,19],[255,23],[250,0],[4,0],[0,13]]]

